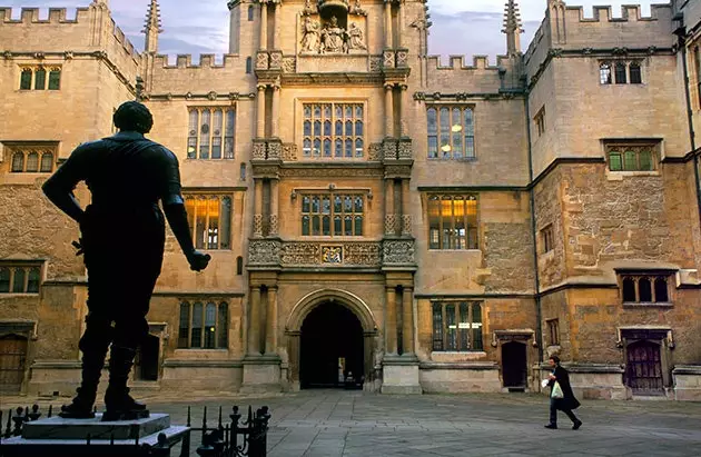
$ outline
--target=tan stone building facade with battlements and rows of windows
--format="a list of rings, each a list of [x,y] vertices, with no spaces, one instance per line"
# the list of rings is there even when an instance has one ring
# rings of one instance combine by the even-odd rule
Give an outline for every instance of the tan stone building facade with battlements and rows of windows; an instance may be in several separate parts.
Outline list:
[[[559,354],[584,398],[701,398],[700,1],[543,0],[523,53],[509,0],[495,66],[430,56],[424,0],[233,0],[198,62],[108,3],[0,9],[3,391],[78,383],[79,234],[40,187],[137,98],[213,256],[168,237],[137,390],[537,391]]]

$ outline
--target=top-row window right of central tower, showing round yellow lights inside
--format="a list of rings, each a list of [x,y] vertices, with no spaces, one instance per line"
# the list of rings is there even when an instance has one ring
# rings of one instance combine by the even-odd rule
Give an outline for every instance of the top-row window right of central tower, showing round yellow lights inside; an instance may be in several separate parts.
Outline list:
[[[447,125],[443,123],[443,110],[447,110]],[[432,128],[431,112],[435,111],[435,130]],[[460,111],[460,126],[455,122],[455,111]],[[476,116],[474,103],[428,103],[426,105],[426,157],[428,160],[476,160],[477,146],[475,142]],[[470,116],[467,116],[470,112]],[[467,122],[470,118],[470,122]],[[458,126],[460,130],[455,127]],[[447,129],[448,131],[444,131]],[[448,143],[444,143],[447,138]],[[460,138],[461,152],[455,156],[456,138]],[[433,150],[432,139],[435,141]],[[471,145],[468,150],[467,145]],[[448,146],[448,149],[445,147]]]

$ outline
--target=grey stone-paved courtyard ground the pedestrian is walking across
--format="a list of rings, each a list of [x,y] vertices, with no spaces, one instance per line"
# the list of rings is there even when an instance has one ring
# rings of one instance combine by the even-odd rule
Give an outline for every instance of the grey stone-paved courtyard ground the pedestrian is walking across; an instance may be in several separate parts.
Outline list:
[[[185,423],[182,398],[145,398],[151,411]],[[2,398],[2,409],[29,399]],[[46,405],[46,401],[42,401]],[[59,401],[53,400],[53,405]],[[564,415],[547,430],[547,398],[537,395],[381,396],[312,390],[284,396],[199,398],[189,405],[195,426],[209,407],[259,407],[273,413],[270,457],[295,456],[699,456],[701,404],[583,401],[584,421],[572,430]],[[192,453],[192,455],[196,455]]]

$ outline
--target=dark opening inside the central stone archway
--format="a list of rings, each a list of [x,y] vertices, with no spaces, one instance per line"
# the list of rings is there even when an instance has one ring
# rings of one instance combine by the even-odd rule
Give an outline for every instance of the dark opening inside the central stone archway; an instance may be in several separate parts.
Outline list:
[[[299,384],[303,389],[340,387],[364,372],[363,326],[343,305],[327,301],[312,310],[300,331]]]

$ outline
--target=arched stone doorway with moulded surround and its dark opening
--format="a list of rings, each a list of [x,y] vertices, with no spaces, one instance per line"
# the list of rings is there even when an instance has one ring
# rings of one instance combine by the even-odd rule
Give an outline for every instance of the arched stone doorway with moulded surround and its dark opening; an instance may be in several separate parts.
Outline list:
[[[374,381],[377,326],[359,297],[339,289],[312,292],[295,305],[285,327],[292,390],[303,383],[305,388],[338,385],[338,358],[345,359],[344,375],[353,371],[366,388]]]

